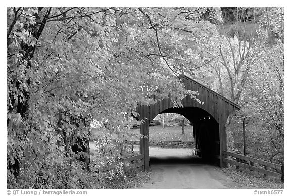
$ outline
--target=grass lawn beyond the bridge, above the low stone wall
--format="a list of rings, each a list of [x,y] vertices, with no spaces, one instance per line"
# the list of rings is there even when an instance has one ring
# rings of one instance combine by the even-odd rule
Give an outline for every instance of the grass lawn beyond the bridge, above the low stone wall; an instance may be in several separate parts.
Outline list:
[[[131,129],[133,133],[139,134],[139,128]],[[138,137],[132,140],[138,140]],[[185,126],[185,134],[182,135],[182,127],[174,126],[163,128],[162,125],[149,127],[149,140],[150,141],[193,141],[193,128],[192,126]]]

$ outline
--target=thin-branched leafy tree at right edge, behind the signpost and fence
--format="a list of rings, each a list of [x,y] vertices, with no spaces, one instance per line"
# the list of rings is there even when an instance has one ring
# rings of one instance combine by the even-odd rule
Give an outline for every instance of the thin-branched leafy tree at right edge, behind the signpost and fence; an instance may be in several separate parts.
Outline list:
[[[284,162],[284,9],[260,8],[258,48],[246,88],[241,95],[242,114],[252,114],[247,126],[249,155]],[[241,130],[232,119],[229,129],[234,149],[241,149]]]

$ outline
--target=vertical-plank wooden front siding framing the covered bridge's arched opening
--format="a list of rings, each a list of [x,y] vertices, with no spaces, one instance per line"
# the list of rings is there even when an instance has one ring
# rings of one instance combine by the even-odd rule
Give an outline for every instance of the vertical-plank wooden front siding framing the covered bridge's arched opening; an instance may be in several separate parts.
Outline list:
[[[204,104],[199,104],[195,99],[190,99],[189,96],[185,97],[182,100],[182,104],[185,107],[198,107],[209,114],[219,123],[219,145],[220,145],[220,165],[226,167],[226,163],[223,162],[223,151],[227,150],[226,143],[226,132],[225,132],[225,121],[228,115],[237,110],[238,108],[231,104],[228,100],[226,100],[221,95],[215,93],[214,91],[198,84],[195,81],[189,80],[187,78],[184,79],[184,84],[186,89],[192,91],[198,91],[199,95],[197,98],[200,99]],[[163,112],[168,108],[172,108],[173,104],[171,99],[164,99],[162,101],[157,101],[156,104],[150,106],[139,106],[137,112],[140,113],[140,119],[146,119],[145,123],[140,126],[140,134],[149,135],[149,123],[155,118],[156,115]],[[196,132],[195,127],[193,127],[193,131]],[[197,140],[198,135],[196,135],[195,140]],[[195,141],[196,142],[196,141]],[[148,171],[149,169],[149,149],[144,148],[144,146],[149,146],[149,138],[143,137],[140,138],[140,153],[144,154],[145,161],[145,169]],[[224,164],[224,165],[223,165]]]

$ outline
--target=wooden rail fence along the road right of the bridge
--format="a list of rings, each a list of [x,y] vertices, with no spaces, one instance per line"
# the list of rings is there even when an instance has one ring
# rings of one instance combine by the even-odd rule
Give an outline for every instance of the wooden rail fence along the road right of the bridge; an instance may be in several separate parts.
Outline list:
[[[226,156],[234,157],[236,158],[236,161],[225,158]],[[282,182],[284,181],[284,165],[278,165],[275,163],[232,153],[229,151],[223,151],[223,157],[223,162],[225,163],[236,165],[238,167],[243,167],[252,171],[257,171],[259,173],[263,173],[264,175],[278,177],[281,178]]]

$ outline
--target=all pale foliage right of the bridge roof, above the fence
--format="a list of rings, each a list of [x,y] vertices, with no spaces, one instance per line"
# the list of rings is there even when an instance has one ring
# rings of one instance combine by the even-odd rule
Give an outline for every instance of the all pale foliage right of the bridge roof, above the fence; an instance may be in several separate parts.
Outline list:
[[[271,162],[284,161],[284,9],[222,8],[210,53],[217,57],[192,75],[201,83],[241,105],[251,114],[247,153]],[[228,148],[242,152],[243,125],[230,116]]]

